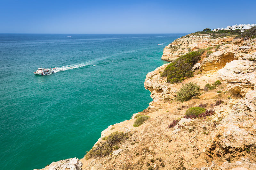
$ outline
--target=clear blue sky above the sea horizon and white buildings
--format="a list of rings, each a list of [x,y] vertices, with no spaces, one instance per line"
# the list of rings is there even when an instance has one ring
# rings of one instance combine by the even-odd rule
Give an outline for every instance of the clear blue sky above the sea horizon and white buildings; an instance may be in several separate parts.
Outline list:
[[[0,0],[0,33],[192,33],[255,23],[256,1]]]

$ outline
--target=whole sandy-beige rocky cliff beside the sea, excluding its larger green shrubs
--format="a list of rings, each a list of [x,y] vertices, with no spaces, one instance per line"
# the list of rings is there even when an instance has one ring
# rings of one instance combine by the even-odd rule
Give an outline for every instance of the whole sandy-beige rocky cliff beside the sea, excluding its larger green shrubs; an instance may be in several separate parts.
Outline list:
[[[147,74],[144,85],[153,98],[149,107],[130,120],[110,125],[94,145],[102,146],[112,132],[124,132],[125,140],[110,154],[61,160],[44,170],[256,169],[256,39],[188,35],[166,46],[162,59],[172,61],[189,50],[207,47],[214,47],[211,54],[205,52],[193,69],[195,76],[182,83],[169,84],[161,77],[168,64]],[[221,81],[216,89],[203,90],[216,80]],[[188,82],[200,86],[199,97],[182,103],[175,101],[177,91]],[[216,100],[222,102],[216,105]],[[205,103],[215,114],[180,119],[189,107],[198,107],[200,103]],[[138,114],[150,118],[134,127]],[[177,125],[168,128],[175,119]]]

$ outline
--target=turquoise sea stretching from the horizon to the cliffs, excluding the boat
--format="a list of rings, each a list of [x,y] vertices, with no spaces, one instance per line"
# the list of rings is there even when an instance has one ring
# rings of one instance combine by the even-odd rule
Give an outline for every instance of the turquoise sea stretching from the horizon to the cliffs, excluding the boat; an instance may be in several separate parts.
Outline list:
[[[146,74],[183,35],[0,34],[0,167],[83,158],[102,130],[148,107]]]

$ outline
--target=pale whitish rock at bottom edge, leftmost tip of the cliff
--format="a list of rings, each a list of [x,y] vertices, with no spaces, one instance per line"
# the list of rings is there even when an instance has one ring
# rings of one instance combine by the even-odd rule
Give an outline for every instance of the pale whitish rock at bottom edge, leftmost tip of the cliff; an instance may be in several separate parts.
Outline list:
[[[82,170],[82,162],[78,158],[70,158],[52,162],[41,170]]]

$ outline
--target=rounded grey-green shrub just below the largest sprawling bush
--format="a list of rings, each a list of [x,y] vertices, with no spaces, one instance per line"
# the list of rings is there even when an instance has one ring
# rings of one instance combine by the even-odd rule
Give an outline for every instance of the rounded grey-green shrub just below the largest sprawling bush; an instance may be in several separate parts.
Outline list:
[[[196,83],[190,82],[183,85],[176,94],[176,100],[178,101],[187,101],[193,96],[198,96],[200,86]]]

